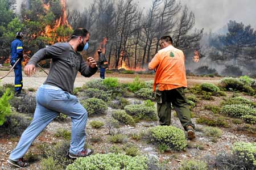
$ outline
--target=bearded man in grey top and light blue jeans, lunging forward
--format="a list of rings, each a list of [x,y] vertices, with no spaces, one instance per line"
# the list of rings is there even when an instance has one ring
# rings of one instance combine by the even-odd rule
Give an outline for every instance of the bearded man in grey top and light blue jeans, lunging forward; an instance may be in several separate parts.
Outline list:
[[[23,132],[16,148],[11,151],[8,163],[19,168],[27,167],[28,163],[23,156],[35,138],[59,113],[66,114],[72,120],[68,156],[79,158],[93,153],[93,150],[84,148],[88,113],[77,97],[72,95],[77,71],[89,77],[98,69],[92,57],[88,57],[88,63],[86,63],[79,53],[84,49],[87,41],[89,41],[89,32],[85,28],[77,28],[73,31],[69,42],[59,42],[48,48],[40,49],[24,67],[24,73],[31,76],[35,73],[36,63],[43,59],[52,59],[49,75],[36,92],[34,118]]]

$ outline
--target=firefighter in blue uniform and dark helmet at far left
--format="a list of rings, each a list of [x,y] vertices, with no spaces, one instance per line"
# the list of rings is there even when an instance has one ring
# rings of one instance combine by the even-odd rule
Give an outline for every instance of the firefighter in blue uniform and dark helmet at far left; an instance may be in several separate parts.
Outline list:
[[[20,58],[16,66],[14,67],[15,73],[15,96],[20,96],[20,92],[23,87],[22,83],[22,59],[23,59],[23,43],[22,43],[23,34],[22,32],[16,33],[16,39],[11,42],[11,65]]]

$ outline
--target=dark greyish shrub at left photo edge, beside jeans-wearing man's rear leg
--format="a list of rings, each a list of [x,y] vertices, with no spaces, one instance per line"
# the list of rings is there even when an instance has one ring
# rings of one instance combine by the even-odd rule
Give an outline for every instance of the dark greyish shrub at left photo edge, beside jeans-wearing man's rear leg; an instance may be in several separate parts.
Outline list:
[[[0,126],[0,134],[7,134],[13,137],[20,136],[30,125],[30,120],[20,113],[11,113],[7,116],[5,123]]]

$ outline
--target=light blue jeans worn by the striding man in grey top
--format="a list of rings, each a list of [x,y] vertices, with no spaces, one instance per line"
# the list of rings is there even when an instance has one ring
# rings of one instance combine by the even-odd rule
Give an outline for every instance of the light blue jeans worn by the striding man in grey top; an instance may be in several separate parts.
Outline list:
[[[9,159],[17,161],[22,158],[35,138],[59,113],[67,114],[72,120],[69,152],[77,154],[82,151],[85,144],[85,126],[88,118],[86,109],[82,107],[76,96],[58,87],[43,84],[36,92],[34,118],[30,126],[23,132]]]

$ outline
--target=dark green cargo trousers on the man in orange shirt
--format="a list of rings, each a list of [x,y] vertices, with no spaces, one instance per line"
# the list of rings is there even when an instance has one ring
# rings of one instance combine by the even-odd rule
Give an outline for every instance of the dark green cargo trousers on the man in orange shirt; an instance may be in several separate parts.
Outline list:
[[[191,121],[191,112],[185,99],[184,87],[156,91],[156,103],[160,125],[171,125],[172,104],[183,128],[187,130],[187,126],[190,125],[195,129],[195,125]]]

